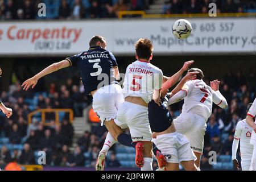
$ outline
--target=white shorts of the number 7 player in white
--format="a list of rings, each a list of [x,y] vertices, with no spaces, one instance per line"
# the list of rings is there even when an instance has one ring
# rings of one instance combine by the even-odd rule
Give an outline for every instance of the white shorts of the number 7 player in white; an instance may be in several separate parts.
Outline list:
[[[204,133],[206,121],[203,117],[193,113],[181,113],[174,119],[174,126],[178,133],[188,138],[194,152],[202,154],[204,148]]]

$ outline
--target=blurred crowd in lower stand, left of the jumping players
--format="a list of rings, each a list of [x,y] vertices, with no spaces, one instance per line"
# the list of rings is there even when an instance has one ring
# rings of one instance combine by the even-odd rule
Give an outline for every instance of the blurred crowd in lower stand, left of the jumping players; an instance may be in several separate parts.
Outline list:
[[[52,82],[46,93],[34,93],[25,92],[17,81],[10,86],[8,93],[1,93],[2,102],[13,109],[13,115],[7,119],[0,113],[0,139],[9,139],[6,145],[1,145],[0,168],[13,160],[20,164],[36,164],[36,151],[45,151],[47,164],[53,166],[64,165],[61,164],[65,160],[64,156],[68,157],[71,166],[81,165],[78,164],[82,154],[80,147],[75,148],[74,152],[68,151],[68,148],[72,147],[74,134],[68,114],[64,115],[59,125],[55,122],[54,113],[46,113],[47,126],[38,118],[33,118],[32,122],[28,123],[28,113],[36,109],[72,109],[75,117],[81,117],[82,111],[92,102],[89,96],[85,96],[84,87],[81,85],[76,85],[68,79],[67,84],[60,87]],[[23,145],[22,151],[19,145]],[[10,149],[8,146],[18,148]],[[69,156],[65,155],[66,153]]]

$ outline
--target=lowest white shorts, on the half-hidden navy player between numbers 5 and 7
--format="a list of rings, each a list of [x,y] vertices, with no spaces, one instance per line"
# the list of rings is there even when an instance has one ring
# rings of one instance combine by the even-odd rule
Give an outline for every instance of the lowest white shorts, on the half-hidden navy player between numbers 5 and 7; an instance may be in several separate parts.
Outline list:
[[[180,133],[168,133],[156,136],[153,139],[156,147],[166,156],[168,163],[180,163],[196,160],[188,139]]]

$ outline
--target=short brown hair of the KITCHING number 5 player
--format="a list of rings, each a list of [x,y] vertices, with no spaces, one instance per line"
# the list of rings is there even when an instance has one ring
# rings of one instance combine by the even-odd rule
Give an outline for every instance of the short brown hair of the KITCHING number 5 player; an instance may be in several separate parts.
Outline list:
[[[153,44],[149,39],[139,39],[135,43],[136,54],[139,59],[150,59],[153,52]]]

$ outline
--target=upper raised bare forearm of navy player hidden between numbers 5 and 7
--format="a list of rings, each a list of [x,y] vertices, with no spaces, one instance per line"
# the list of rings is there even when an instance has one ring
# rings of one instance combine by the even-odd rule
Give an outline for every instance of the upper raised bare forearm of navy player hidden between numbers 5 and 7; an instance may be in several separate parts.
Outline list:
[[[183,67],[180,69],[180,71],[178,71],[177,73],[175,73],[174,75],[169,77],[168,80],[163,83],[163,85],[162,85],[162,92],[166,92],[166,90],[168,90],[169,88],[174,86],[176,84],[176,82],[179,81],[179,78],[182,76],[182,74],[185,71],[187,71],[188,68],[191,66],[191,64],[193,64],[194,62],[195,61],[193,61],[193,60],[186,61],[183,64]]]

